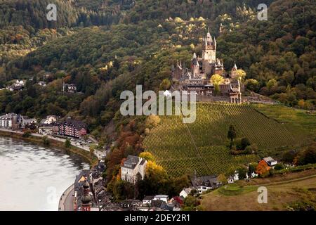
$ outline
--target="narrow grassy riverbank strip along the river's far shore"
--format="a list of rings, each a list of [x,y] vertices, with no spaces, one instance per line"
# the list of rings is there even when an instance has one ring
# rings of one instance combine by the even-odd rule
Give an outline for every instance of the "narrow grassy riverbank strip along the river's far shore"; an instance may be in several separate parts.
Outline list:
[[[29,136],[23,136],[23,132],[21,131],[12,131],[9,129],[0,129],[0,136],[7,136],[11,137],[13,139],[20,139],[23,141],[30,141],[33,143],[44,145],[43,142],[43,135],[41,134],[30,134]],[[98,157],[93,154],[91,155],[90,151],[86,148],[80,148],[78,146],[74,146],[72,143],[70,148],[65,147],[65,139],[56,138],[53,136],[47,136],[47,139],[49,140],[48,146],[53,146],[57,148],[61,148],[62,150],[65,150],[66,153],[75,153],[77,155],[80,155],[82,158],[84,158],[91,166],[95,166],[98,164]],[[47,145],[44,145],[47,146]]]

